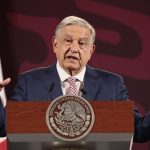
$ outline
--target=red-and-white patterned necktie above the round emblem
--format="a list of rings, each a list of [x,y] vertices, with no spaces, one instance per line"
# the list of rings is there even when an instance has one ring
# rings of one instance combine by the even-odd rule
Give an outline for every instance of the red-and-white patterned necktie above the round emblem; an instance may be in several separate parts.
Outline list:
[[[66,95],[78,95],[77,86],[76,86],[76,78],[69,77],[67,81],[70,84],[70,87],[66,90]]]

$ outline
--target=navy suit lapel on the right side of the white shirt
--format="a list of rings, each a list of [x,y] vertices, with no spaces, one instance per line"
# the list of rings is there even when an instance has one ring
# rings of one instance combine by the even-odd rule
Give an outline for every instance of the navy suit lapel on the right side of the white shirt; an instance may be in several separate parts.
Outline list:
[[[99,78],[99,74],[97,72],[87,66],[85,78],[84,78],[84,90],[82,97],[87,100],[94,100],[96,98],[96,93],[100,90],[101,78]]]

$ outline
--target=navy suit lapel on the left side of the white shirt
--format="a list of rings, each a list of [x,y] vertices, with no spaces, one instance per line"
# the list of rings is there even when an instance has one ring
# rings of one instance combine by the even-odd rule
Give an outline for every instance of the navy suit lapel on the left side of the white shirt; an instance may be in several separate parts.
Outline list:
[[[62,95],[60,78],[56,70],[56,64],[49,67],[44,76],[44,84],[49,92],[49,99],[53,100]]]

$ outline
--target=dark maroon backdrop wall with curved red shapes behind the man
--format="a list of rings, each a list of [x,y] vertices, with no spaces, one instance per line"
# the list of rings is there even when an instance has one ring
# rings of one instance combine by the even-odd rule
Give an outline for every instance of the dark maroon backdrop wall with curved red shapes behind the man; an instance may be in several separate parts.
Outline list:
[[[66,16],[87,19],[96,29],[90,65],[123,75],[139,110],[150,110],[150,1],[148,0],[1,0],[0,56],[7,96],[19,73],[55,61],[51,38]],[[150,143],[134,144],[149,150]]]

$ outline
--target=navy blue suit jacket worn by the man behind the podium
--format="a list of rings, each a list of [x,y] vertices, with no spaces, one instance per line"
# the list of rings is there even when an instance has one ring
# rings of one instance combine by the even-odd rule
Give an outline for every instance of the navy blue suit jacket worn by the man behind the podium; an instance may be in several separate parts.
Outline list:
[[[18,101],[53,100],[62,95],[56,64],[20,75],[11,99]],[[121,76],[91,68],[87,65],[82,97],[87,100],[128,100]],[[135,109],[134,141],[150,139],[150,115],[142,117]]]

